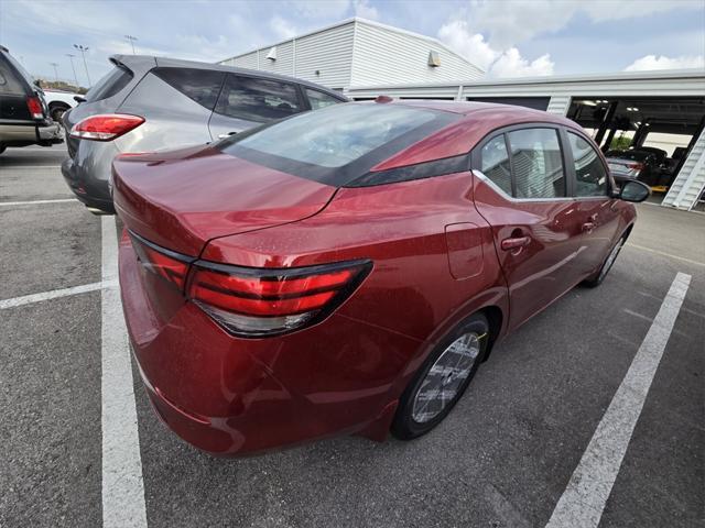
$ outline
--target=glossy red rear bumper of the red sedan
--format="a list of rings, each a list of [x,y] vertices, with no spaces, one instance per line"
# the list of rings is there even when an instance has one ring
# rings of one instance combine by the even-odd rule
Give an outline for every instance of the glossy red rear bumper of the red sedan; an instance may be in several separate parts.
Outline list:
[[[336,315],[289,336],[235,338],[141,266],[127,237],[120,288],[154,408],[182,439],[220,455],[340,433],[383,437],[420,345]]]

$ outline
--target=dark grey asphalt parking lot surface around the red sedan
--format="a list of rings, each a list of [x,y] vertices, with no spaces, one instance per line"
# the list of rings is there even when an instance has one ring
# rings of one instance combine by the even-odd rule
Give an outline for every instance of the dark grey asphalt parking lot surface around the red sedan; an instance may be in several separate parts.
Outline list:
[[[416,441],[349,437],[215,459],[165,429],[133,369],[128,480],[144,495],[133,512],[104,485],[113,425],[101,336],[118,322],[102,316],[102,232],[117,230],[70,200],[64,155],[57,145],[0,156],[0,526],[118,526],[105,513],[122,510],[150,527],[543,527],[586,453],[597,446],[609,459],[620,441],[599,526],[705,526],[705,215],[652,205],[638,207],[605,284],[576,288],[498,345],[449,418]],[[677,274],[690,285],[675,323],[654,330]],[[663,332],[633,431],[601,430],[619,395],[639,398],[623,382]]]

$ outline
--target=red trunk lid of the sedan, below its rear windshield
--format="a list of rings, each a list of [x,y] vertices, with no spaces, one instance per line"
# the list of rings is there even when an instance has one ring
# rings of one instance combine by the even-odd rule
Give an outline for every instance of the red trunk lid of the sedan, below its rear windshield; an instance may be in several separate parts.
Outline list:
[[[215,238],[311,217],[335,191],[204,146],[113,162],[115,205],[127,227],[191,256]]]

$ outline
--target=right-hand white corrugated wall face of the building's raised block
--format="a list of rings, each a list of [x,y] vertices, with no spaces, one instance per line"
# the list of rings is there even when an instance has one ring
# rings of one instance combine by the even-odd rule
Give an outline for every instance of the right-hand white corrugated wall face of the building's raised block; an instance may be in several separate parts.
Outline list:
[[[441,66],[429,66],[429,53]],[[365,21],[357,22],[350,86],[477,79],[482,72],[441,44]]]

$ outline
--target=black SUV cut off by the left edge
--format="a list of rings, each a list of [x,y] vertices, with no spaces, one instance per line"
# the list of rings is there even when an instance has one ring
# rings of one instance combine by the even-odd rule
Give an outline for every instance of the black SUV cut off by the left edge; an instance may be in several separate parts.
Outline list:
[[[61,127],[50,118],[42,88],[0,46],[0,154],[8,146],[50,146],[62,141]]]

